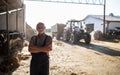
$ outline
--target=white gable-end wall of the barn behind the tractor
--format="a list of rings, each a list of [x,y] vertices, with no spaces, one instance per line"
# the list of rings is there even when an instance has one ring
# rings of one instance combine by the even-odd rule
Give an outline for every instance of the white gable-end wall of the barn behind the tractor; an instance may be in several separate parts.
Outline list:
[[[95,19],[92,17],[88,17],[84,20],[84,24],[94,24],[94,31],[95,30],[100,30],[101,32],[103,32],[103,21],[99,20],[99,19]]]

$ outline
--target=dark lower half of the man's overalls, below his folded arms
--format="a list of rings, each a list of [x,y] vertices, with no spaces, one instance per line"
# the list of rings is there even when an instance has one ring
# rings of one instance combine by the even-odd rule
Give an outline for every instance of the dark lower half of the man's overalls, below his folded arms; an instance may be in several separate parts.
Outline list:
[[[32,55],[30,75],[49,75],[49,57],[46,54]]]

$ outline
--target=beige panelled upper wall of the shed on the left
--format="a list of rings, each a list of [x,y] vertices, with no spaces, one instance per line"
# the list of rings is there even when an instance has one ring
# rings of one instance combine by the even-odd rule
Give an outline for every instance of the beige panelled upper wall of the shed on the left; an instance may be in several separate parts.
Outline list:
[[[12,11],[12,10],[11,10]],[[13,11],[8,14],[8,30],[10,31],[19,31],[25,32],[25,16],[24,13],[25,8],[23,7],[21,10]],[[18,13],[18,16],[16,16]],[[17,18],[17,19],[16,19]],[[18,27],[17,27],[18,26]],[[0,13],[0,30],[6,30],[6,13]]]

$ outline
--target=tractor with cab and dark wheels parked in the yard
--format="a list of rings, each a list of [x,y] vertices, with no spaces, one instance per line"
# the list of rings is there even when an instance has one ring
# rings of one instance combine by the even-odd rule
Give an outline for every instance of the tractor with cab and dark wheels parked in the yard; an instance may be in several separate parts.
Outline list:
[[[91,35],[85,32],[82,28],[82,23],[79,20],[69,20],[66,23],[66,27],[63,31],[63,40],[71,41],[72,43],[77,43],[81,39],[84,39],[86,44],[91,41]]]

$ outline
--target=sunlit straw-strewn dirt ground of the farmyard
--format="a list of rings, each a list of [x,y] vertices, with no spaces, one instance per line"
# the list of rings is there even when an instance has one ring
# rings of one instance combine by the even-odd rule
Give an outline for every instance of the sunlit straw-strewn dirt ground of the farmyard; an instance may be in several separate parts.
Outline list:
[[[31,55],[24,47],[27,60],[12,75],[29,75]],[[120,43],[92,41],[73,45],[53,40],[50,52],[50,75],[120,75]]]

